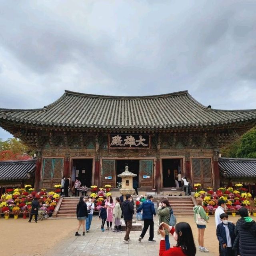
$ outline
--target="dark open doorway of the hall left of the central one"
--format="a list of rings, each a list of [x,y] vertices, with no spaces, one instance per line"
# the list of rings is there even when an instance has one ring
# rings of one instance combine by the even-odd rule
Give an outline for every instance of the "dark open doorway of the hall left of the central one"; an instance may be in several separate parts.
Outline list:
[[[75,178],[78,178],[82,185],[87,187],[92,186],[92,162],[93,159],[91,158],[73,159],[72,162]]]

